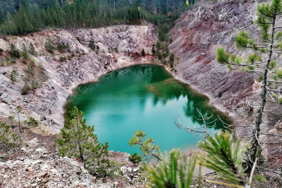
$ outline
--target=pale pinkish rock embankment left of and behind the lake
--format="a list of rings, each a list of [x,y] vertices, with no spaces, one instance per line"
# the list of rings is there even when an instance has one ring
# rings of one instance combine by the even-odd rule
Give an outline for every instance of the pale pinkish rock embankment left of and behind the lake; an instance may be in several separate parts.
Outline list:
[[[65,42],[70,44],[71,53],[55,50],[55,55],[46,51],[44,44],[49,36],[56,44]],[[89,41],[93,39],[95,45],[99,46],[99,52],[88,47]],[[4,66],[0,66],[0,117],[11,115],[17,105],[24,108],[32,117],[37,119],[41,125],[49,126],[52,132],[59,132],[64,123],[63,107],[72,89],[81,83],[96,81],[99,76],[108,71],[122,68],[137,63],[148,63],[154,60],[153,56],[140,58],[134,53],[124,51],[138,51],[139,54],[144,48],[150,51],[152,44],[157,39],[153,25],[148,26],[112,26],[100,29],[78,29],[78,30],[44,30],[26,36],[14,36],[9,41],[21,48],[22,44],[30,42],[35,45],[37,56],[30,56],[35,61],[35,74],[39,74],[40,63],[44,67],[44,73],[48,76],[42,86],[30,91],[28,95],[21,95],[21,88],[27,65],[23,59],[17,60],[15,64],[5,65],[4,57],[7,55],[9,42],[0,38],[0,48],[4,50],[0,56]],[[76,45],[80,55],[76,52]],[[118,53],[108,53],[108,48],[118,48]],[[82,54],[85,52],[85,55]],[[114,50],[111,50],[114,51]],[[60,62],[59,58],[64,56],[70,60]],[[137,57],[136,57],[137,56]],[[14,84],[10,81],[10,73],[16,70],[19,74]]]

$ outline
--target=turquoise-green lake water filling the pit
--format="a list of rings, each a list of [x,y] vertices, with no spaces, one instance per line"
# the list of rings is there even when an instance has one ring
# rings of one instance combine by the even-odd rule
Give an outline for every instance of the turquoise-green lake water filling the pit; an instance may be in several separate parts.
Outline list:
[[[154,138],[162,152],[173,148],[194,148],[198,139],[179,129],[173,123],[180,121],[186,127],[198,126],[200,114],[231,123],[231,119],[208,103],[208,98],[181,83],[158,65],[134,65],[112,71],[98,82],[76,88],[65,109],[73,106],[84,112],[86,123],[94,125],[98,140],[108,142],[109,150],[140,153],[138,147],[128,146],[134,131],[142,129]],[[66,113],[66,117],[68,114]],[[197,117],[197,118],[195,118]],[[217,120],[214,132],[222,128]]]

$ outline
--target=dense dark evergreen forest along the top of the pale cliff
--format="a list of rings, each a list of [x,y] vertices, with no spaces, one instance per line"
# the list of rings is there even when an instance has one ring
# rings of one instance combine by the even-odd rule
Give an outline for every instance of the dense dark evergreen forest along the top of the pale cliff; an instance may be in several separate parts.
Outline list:
[[[163,2],[164,1],[164,2]],[[44,28],[97,28],[116,24],[141,24],[144,19],[162,24],[184,11],[184,0],[81,0],[81,1],[6,1],[0,2],[0,33],[27,34]],[[19,4],[19,3],[18,3]],[[9,7],[9,9],[8,9]]]

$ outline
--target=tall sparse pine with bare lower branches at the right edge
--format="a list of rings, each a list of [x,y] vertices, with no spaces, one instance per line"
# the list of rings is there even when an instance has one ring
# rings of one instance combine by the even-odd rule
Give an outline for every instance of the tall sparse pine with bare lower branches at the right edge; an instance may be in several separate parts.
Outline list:
[[[260,75],[262,80],[262,90],[259,95],[259,102],[256,104],[250,104],[247,101],[244,102],[251,112],[253,122],[249,125],[239,126],[252,128],[251,135],[248,138],[252,138],[251,146],[248,151],[248,158],[246,162],[246,172],[249,173],[256,158],[256,153],[259,147],[264,148],[268,153],[279,154],[282,152],[282,136],[276,134],[262,133],[261,125],[264,123],[263,113],[266,102],[276,102],[282,104],[282,88],[281,79],[282,71],[275,69],[276,61],[273,60],[275,54],[282,53],[282,32],[281,25],[276,24],[279,16],[282,15],[282,3],[281,0],[273,0],[271,3],[261,3],[257,7],[257,19],[254,21],[261,30],[262,43],[256,43],[254,39],[249,37],[247,31],[241,31],[235,38],[235,46],[240,50],[252,49],[253,54],[249,54],[247,59],[243,61],[241,57],[234,54],[228,54],[223,48],[217,49],[217,62],[222,65],[227,65],[228,68],[235,70],[243,70],[244,72],[255,73]],[[263,55],[263,59],[258,52]],[[253,95],[252,97],[255,97]],[[271,142],[263,142],[261,137],[276,137]],[[269,145],[271,144],[271,145]],[[264,147],[263,147],[264,145]],[[276,147],[278,146],[278,147]]]

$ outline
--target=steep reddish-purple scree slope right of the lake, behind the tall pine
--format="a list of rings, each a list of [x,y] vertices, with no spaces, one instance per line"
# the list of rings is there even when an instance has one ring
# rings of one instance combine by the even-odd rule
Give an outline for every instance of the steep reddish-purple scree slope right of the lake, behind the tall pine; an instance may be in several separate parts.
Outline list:
[[[254,81],[258,75],[240,70],[229,72],[226,66],[217,63],[215,54],[219,47],[243,57],[249,53],[238,51],[233,41],[242,30],[259,39],[258,27],[252,23],[256,6],[257,2],[251,1],[201,1],[183,13],[170,31],[173,39],[170,50],[180,58],[175,65],[175,77],[207,95],[214,106],[227,112],[237,123],[243,120],[240,120],[241,112],[228,106],[240,103],[235,97],[242,99],[244,92],[258,92],[259,86]],[[219,91],[223,93],[221,98],[217,97]],[[272,109],[275,112],[279,107]]]

